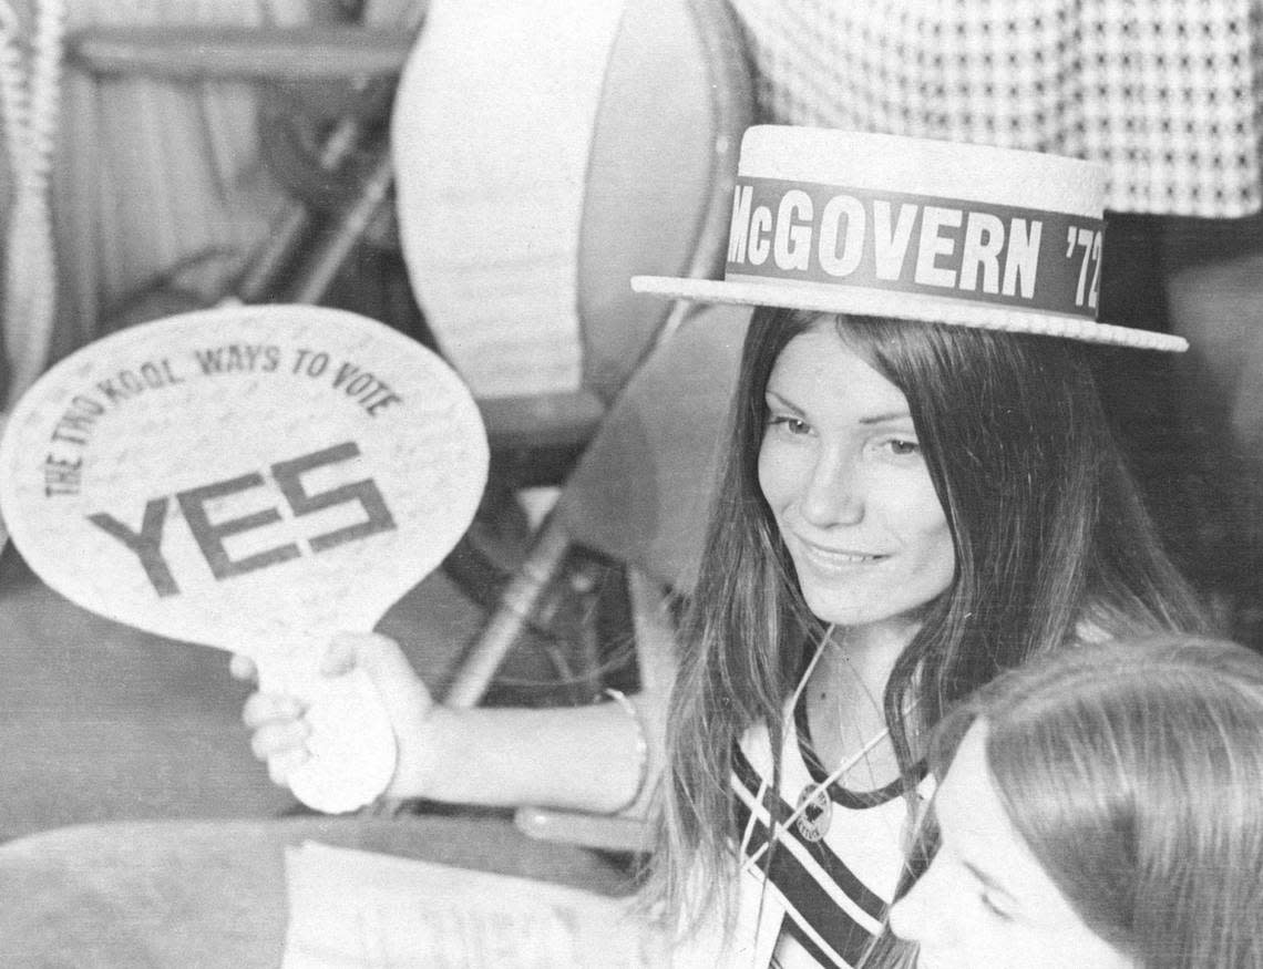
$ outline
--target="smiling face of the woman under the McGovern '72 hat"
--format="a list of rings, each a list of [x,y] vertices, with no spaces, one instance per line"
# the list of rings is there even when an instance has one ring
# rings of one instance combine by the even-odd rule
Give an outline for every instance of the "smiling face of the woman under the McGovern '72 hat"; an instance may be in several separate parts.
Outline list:
[[[947,516],[908,401],[831,328],[789,341],[768,380],[759,486],[808,608],[871,627],[942,593]]]

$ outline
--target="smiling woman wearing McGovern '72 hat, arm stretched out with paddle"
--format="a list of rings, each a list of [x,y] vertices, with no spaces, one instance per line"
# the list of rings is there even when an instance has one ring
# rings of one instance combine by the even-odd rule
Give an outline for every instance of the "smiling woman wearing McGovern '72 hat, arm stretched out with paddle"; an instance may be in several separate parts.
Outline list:
[[[615,811],[666,766],[647,891],[686,930],[682,964],[856,964],[950,703],[1037,652],[1201,622],[1080,342],[1173,346],[1091,318],[1098,174],[751,129],[725,280],[633,280],[760,307],[666,743],[644,756],[661,728],[639,699],[436,708],[390,643],[342,640],[331,669],[365,666],[395,723],[390,792]],[[246,720],[283,780],[301,710],[258,695]]]

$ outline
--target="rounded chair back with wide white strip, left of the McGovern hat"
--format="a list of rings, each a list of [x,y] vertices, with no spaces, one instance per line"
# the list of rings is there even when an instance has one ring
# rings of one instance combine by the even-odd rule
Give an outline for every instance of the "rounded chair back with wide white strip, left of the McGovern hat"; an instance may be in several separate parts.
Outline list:
[[[722,0],[433,0],[392,139],[408,275],[480,397],[609,400],[667,322],[635,273],[726,242],[749,68]]]

